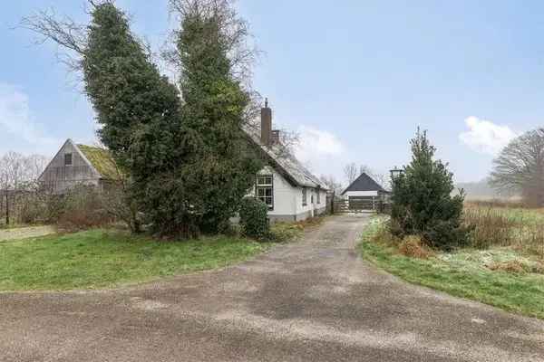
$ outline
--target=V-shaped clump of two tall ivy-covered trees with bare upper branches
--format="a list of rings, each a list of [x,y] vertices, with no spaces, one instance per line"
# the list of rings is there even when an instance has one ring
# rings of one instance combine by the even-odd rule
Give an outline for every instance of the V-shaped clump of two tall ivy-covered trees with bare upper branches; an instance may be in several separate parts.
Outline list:
[[[83,72],[102,143],[152,229],[167,236],[219,231],[261,167],[242,130],[249,97],[237,79],[253,55],[244,46],[246,24],[229,0],[170,0],[183,15],[181,101],[125,14],[111,0],[91,5],[86,27],[47,12],[24,24],[76,54],[71,64]]]

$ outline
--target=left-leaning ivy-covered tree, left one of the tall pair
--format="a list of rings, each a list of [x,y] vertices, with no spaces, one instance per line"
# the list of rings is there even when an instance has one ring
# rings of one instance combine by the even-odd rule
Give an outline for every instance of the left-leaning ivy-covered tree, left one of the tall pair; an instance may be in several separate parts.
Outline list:
[[[191,178],[199,136],[183,127],[180,94],[161,76],[131,34],[126,16],[112,3],[93,7],[83,52],[85,90],[92,100],[99,136],[123,172],[131,196],[154,231],[195,233]]]

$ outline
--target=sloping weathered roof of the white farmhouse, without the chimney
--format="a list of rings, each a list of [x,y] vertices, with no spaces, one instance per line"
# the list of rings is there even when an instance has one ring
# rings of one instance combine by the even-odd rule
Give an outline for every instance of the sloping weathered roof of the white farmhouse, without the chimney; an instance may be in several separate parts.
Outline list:
[[[246,127],[244,130],[249,138],[264,151],[270,161],[270,166],[274,167],[279,174],[285,176],[292,185],[327,189],[327,186],[304,167],[285,146],[279,143],[266,146],[262,144],[257,128]]]

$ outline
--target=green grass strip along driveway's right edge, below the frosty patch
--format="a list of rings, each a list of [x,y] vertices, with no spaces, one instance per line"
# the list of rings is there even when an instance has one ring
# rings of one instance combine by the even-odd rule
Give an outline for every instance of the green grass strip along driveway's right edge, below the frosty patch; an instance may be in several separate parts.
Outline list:
[[[359,246],[364,258],[376,266],[405,281],[544,319],[544,275],[491,271],[478,257],[467,256],[472,254],[468,250],[428,260],[406,257],[393,246],[375,240],[380,227],[379,220],[371,224]]]

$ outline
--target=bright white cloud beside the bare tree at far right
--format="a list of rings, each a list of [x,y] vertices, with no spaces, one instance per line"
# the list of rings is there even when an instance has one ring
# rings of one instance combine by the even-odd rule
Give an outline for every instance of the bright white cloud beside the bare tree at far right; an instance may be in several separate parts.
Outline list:
[[[518,136],[508,126],[500,126],[490,120],[469,117],[465,119],[465,123],[469,130],[459,135],[461,142],[469,148],[492,156],[497,155]]]

